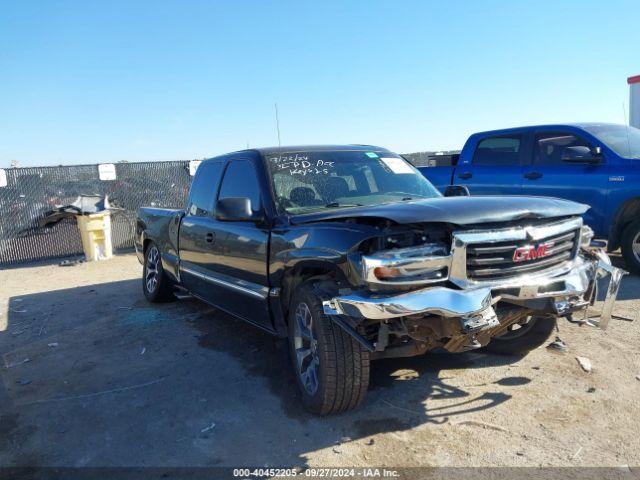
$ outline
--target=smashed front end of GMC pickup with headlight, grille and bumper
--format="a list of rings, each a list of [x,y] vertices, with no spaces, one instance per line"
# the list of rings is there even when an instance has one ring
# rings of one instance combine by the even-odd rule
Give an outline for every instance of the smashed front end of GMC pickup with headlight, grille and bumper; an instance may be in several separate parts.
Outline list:
[[[598,279],[608,277],[602,313],[591,321],[607,327],[626,272],[592,244],[581,218],[447,235],[362,254],[356,268],[363,287],[331,295],[325,314],[379,357],[459,352],[532,317],[586,317]]]

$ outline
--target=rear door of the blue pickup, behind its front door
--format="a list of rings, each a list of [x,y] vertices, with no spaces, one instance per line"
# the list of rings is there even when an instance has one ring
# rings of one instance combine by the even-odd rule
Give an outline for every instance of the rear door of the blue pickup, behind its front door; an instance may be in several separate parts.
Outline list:
[[[526,135],[484,137],[473,152],[460,157],[453,175],[454,185],[466,185],[472,195],[520,195]]]

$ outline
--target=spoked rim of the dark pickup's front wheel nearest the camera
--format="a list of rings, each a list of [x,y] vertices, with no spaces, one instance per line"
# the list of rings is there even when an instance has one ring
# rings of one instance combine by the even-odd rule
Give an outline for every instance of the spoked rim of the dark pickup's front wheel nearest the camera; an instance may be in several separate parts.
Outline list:
[[[299,303],[296,308],[293,328],[293,345],[296,366],[300,383],[309,395],[318,390],[318,341],[313,337],[313,317],[306,303]]]

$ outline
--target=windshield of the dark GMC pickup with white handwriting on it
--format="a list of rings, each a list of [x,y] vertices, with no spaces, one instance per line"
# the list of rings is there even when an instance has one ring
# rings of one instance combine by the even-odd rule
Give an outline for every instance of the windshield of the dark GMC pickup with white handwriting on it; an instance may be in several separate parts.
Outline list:
[[[305,151],[266,156],[276,202],[292,214],[440,196],[402,157],[387,151]]]

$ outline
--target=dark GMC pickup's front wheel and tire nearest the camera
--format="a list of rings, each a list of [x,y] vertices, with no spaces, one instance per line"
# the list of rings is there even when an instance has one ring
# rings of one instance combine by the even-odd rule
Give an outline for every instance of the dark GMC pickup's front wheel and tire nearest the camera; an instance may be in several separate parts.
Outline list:
[[[329,415],[358,406],[369,387],[369,352],[324,314],[309,282],[293,295],[288,328],[305,408]]]

